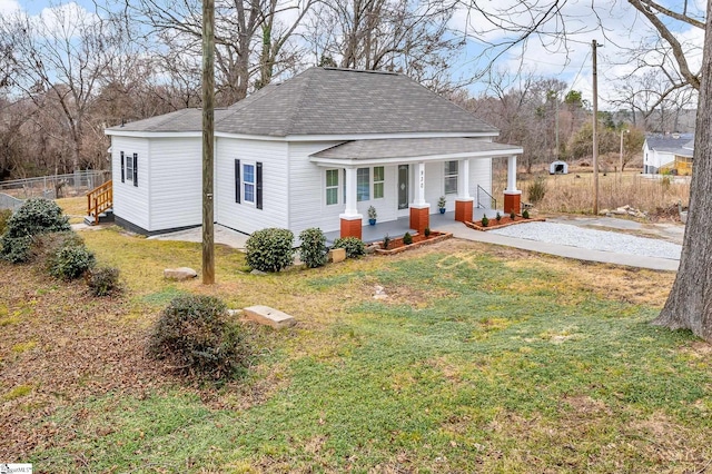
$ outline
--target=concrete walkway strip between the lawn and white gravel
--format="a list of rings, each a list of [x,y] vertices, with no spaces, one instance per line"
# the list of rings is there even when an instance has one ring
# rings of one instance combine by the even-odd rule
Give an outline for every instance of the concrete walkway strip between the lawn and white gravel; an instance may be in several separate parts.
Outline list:
[[[526,224],[521,224],[526,226]],[[456,238],[482,241],[485,244],[504,245],[506,247],[521,248],[523,250],[538,251],[541,254],[556,255],[577,260],[597,261],[602,264],[625,265],[630,267],[647,268],[652,270],[676,271],[680,260],[669,258],[642,257],[636,255],[617,254],[613,251],[591,250],[581,247],[548,244],[545,241],[527,240],[474,230],[459,223],[454,223],[437,230],[453,233]]]

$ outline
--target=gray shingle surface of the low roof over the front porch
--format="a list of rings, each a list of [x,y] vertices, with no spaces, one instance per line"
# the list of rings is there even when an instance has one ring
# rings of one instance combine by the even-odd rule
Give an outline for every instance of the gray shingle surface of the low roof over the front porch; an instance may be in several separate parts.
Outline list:
[[[514,145],[492,144],[472,138],[399,138],[383,140],[354,140],[318,151],[315,158],[326,159],[385,159],[426,157],[457,154],[518,155],[522,148]]]

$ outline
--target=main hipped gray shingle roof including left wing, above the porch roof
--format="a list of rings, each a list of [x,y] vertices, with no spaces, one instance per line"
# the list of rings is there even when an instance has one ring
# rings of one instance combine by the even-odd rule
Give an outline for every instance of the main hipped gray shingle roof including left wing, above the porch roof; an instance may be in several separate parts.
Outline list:
[[[492,134],[497,129],[406,76],[310,68],[225,110],[216,131],[273,137],[408,132]],[[113,127],[127,131],[198,131],[186,109]]]

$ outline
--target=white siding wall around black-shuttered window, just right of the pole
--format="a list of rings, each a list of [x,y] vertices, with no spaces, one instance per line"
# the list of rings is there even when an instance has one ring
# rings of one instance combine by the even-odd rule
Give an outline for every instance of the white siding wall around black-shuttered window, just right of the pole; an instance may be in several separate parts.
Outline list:
[[[263,209],[235,203],[235,160],[263,164]],[[267,227],[288,227],[289,180],[287,144],[283,141],[217,138],[216,140],[216,221],[233,229],[251,234]]]

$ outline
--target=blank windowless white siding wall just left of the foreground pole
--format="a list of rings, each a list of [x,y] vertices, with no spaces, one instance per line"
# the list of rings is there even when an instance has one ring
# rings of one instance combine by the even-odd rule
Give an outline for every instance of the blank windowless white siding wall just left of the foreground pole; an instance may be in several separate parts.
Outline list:
[[[202,223],[202,140],[154,138],[150,147],[150,227],[165,230]],[[141,180],[139,178],[139,186]]]

